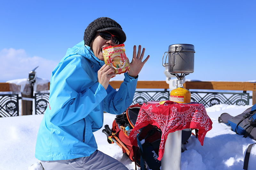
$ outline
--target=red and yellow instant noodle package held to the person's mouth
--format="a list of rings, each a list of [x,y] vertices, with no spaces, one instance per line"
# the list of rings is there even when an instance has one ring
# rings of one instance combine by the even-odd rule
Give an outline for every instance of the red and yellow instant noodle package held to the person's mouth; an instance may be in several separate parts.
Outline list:
[[[124,44],[102,48],[105,64],[114,68],[115,74],[129,72],[130,66],[125,55]]]

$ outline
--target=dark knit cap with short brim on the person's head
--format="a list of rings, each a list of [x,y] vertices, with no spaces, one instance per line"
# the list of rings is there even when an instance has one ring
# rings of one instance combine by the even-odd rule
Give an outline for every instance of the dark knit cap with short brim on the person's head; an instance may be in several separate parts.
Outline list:
[[[118,33],[121,39],[120,44],[126,40],[126,35],[122,27],[113,19],[108,17],[97,18],[92,21],[84,31],[84,44],[90,46],[92,39],[94,38],[97,31],[108,31],[113,30]]]

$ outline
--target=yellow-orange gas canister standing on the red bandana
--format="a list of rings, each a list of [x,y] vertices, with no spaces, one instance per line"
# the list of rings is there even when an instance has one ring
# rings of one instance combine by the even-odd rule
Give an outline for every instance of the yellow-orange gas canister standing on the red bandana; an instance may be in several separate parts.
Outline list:
[[[191,93],[183,86],[178,86],[170,92],[170,100],[177,103],[190,103],[190,96]]]

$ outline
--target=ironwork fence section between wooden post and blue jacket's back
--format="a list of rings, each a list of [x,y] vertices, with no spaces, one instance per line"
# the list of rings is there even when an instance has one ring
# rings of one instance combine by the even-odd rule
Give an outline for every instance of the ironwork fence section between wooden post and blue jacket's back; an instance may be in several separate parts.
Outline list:
[[[47,106],[49,105],[49,94],[50,93],[36,93],[35,94],[35,114],[44,114]]]

